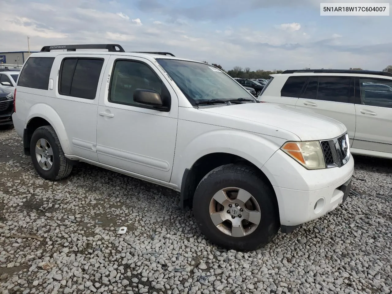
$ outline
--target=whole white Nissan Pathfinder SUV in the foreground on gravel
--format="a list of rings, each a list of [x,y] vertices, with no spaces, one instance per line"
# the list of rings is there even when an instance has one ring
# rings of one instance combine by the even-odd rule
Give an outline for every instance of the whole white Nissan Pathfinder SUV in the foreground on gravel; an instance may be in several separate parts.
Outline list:
[[[258,103],[203,62],[116,44],[31,54],[13,122],[43,178],[82,161],[174,189],[205,236],[236,250],[338,207],[354,169],[342,123]]]

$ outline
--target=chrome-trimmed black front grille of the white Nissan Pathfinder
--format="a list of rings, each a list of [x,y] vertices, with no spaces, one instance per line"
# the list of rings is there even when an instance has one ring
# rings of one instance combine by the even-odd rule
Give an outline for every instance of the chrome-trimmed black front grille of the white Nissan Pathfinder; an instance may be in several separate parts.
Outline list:
[[[332,140],[321,141],[325,165],[328,167],[341,167],[348,162],[348,142],[346,134]]]

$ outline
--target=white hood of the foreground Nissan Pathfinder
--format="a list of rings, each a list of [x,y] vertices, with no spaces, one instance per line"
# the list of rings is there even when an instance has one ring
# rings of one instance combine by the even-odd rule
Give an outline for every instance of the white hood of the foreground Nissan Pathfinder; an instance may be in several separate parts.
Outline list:
[[[199,110],[283,129],[302,141],[332,139],[347,131],[343,123],[327,116],[273,103],[243,103]]]

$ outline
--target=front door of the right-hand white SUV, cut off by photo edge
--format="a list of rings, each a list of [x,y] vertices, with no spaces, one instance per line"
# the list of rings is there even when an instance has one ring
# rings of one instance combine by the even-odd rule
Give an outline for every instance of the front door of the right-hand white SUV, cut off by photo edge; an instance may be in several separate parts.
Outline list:
[[[392,153],[392,80],[357,78],[353,147]]]

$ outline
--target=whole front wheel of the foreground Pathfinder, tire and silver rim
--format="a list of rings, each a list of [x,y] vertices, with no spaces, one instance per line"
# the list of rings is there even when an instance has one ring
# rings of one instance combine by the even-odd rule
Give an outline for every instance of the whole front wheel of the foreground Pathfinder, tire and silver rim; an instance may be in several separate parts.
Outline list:
[[[243,207],[242,204],[242,206],[240,205],[237,207],[242,209],[243,214],[253,210],[253,216],[257,214],[254,214],[254,212],[260,211],[260,216],[258,216],[260,223],[258,223],[256,227],[254,223],[243,221],[247,216],[237,214],[237,216],[234,217],[234,221],[236,221],[237,224],[239,221],[244,228],[247,227],[247,224],[250,224],[250,226],[248,229],[245,228],[240,231],[237,230],[238,227],[236,227],[235,233],[233,233],[234,231],[232,229],[231,235],[228,234],[229,231],[227,228],[232,226],[232,218],[236,212],[238,213],[238,209],[233,211],[233,207],[235,207],[234,203],[240,202],[238,200],[240,198],[246,199],[247,196],[241,196],[236,200],[229,199],[229,203],[232,203],[230,204],[232,205],[231,208],[227,205],[221,205],[223,210],[222,214],[219,213],[217,223],[219,223],[222,218],[229,218],[229,220],[220,223],[218,225],[219,228],[214,224],[210,212],[211,209],[214,210],[215,207],[217,207],[215,204],[218,203],[218,201],[213,204],[213,202],[215,202],[215,197],[219,198],[219,195],[222,194],[222,189],[229,187],[238,188],[241,191],[241,195],[250,194],[252,197],[249,198],[251,199],[251,203],[256,201],[256,203],[253,203],[253,208],[255,210],[249,209],[249,206],[247,209],[243,209],[241,208]],[[234,191],[236,189],[229,188],[229,190]],[[223,195],[229,195],[230,193],[233,195],[229,190],[223,192]],[[246,192],[249,194],[246,194]],[[237,194],[237,196],[238,195],[239,194]],[[228,199],[226,196],[223,197],[225,197],[224,199]],[[214,200],[212,200],[212,198],[214,198]],[[200,181],[193,198],[193,214],[199,229],[212,243],[226,249],[252,251],[267,245],[279,230],[279,213],[274,199],[276,199],[274,192],[269,185],[258,176],[256,170],[246,165],[222,165],[213,169]],[[245,206],[249,205],[250,202],[248,201],[246,203]],[[250,217],[248,217],[248,219],[250,219]],[[255,218],[252,218],[252,221],[255,220]],[[257,220],[255,223],[257,223]],[[242,235],[244,232],[245,234]],[[240,234],[238,235],[238,233]],[[233,234],[238,236],[232,236]]]

